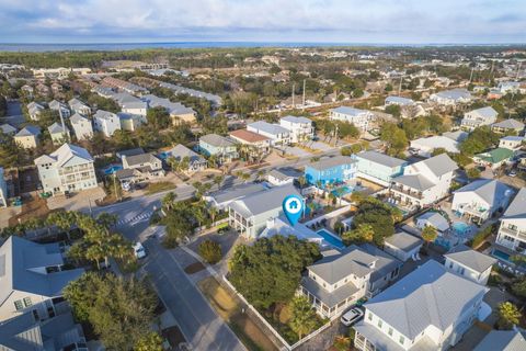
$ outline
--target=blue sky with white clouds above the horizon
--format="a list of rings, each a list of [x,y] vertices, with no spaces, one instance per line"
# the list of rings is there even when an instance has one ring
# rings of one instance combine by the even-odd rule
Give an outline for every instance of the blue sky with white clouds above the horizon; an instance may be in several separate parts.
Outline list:
[[[0,0],[0,43],[526,44],[526,0]]]

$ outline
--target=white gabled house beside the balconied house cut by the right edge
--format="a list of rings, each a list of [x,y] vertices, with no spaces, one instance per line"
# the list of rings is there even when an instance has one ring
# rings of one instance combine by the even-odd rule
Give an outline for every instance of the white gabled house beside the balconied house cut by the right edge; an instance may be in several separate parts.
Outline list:
[[[451,211],[481,224],[496,212],[503,212],[513,194],[511,186],[498,180],[479,179],[455,191]]]

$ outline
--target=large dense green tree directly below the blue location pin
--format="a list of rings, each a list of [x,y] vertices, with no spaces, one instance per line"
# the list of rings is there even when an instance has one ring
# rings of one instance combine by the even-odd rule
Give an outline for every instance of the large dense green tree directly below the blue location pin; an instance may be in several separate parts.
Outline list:
[[[294,296],[301,272],[320,251],[316,244],[294,236],[263,238],[236,247],[229,261],[229,280],[254,306],[268,308]]]

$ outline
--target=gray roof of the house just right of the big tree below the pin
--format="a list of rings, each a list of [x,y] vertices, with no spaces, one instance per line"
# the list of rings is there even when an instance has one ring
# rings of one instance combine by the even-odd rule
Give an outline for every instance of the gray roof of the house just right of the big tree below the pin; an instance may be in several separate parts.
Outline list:
[[[334,284],[347,275],[365,276],[375,270],[371,264],[378,258],[367,253],[364,249],[352,245],[341,253],[323,257],[307,269],[329,284]]]

